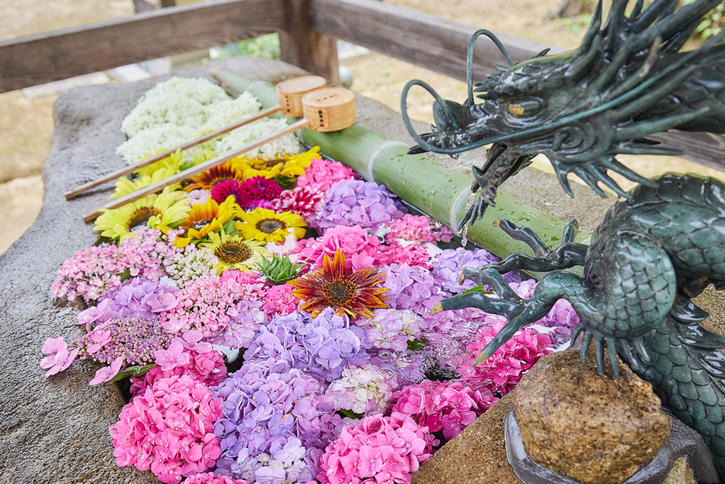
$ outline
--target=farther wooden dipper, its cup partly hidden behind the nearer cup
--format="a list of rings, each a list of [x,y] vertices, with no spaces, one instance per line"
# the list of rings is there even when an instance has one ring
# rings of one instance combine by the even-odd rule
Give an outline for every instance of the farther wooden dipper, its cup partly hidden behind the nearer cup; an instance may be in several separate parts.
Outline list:
[[[217,131],[214,131],[210,134],[204,134],[204,136],[199,136],[199,138],[192,139],[191,141],[186,141],[186,143],[180,144],[177,147],[167,149],[165,152],[159,153],[158,155],[154,155],[150,158],[146,158],[146,160],[142,160],[134,165],[120,168],[120,170],[113,171],[112,173],[101,176],[101,178],[99,179],[88,181],[88,183],[82,184],[75,189],[65,192],[65,198],[67,200],[70,200],[74,197],[78,197],[78,195],[80,195],[81,193],[95,188],[96,186],[102,185],[107,181],[117,179],[119,176],[128,175],[128,173],[136,171],[139,168],[144,168],[144,166],[148,166],[152,163],[156,163],[159,160],[163,160],[165,157],[171,155],[177,149],[181,149],[183,151],[185,149],[195,147],[197,144],[201,144],[204,141],[209,141],[210,139],[214,139],[217,136],[227,134],[229,131],[233,131],[236,128],[241,128],[241,126],[246,126],[247,124],[260,120],[262,118],[267,118],[268,116],[271,116],[276,112],[282,112],[282,114],[284,115],[299,118],[300,116],[302,116],[302,96],[315,89],[322,89],[325,86],[325,78],[320,77],[319,75],[302,75],[298,78],[291,78],[287,79],[286,81],[282,81],[277,85],[277,95],[279,99],[279,104],[277,106],[273,106],[266,110],[256,112],[253,115],[248,116],[247,118],[235,121],[234,123],[224,126],[223,128],[219,128]],[[290,107],[297,109],[292,111]]]

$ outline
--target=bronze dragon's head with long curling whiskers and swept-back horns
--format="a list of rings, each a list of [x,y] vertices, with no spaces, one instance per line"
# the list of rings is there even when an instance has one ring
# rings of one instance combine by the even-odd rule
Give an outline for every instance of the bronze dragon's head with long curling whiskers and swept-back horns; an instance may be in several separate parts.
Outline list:
[[[418,143],[410,152],[455,156],[492,144],[483,168],[473,167],[471,190],[481,191],[460,222],[473,223],[494,205],[498,186],[546,155],[563,189],[573,196],[568,173],[600,194],[599,186],[629,197],[609,175],[614,171],[641,184],[652,182],[616,160],[618,154],[677,155],[646,136],[676,128],[725,133],[725,30],[699,49],[680,52],[700,18],[722,0],[697,0],[676,9],[678,0],[613,0],[602,25],[597,5],[581,46],[573,52],[513,63],[500,41],[479,30],[468,48],[468,99],[444,100],[422,81],[402,94],[403,120]],[[471,62],[476,38],[492,38],[508,61],[498,73],[473,85]],[[416,134],[407,118],[407,92],[423,86],[436,99],[431,133]],[[484,102],[474,102],[474,92]]]

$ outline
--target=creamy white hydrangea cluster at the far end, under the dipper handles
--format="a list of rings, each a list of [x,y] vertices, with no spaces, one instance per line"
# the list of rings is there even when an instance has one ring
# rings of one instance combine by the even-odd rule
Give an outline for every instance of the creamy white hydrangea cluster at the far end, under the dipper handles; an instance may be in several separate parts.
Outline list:
[[[126,163],[133,165],[154,153],[215,131],[259,110],[259,101],[248,92],[231,99],[222,88],[205,79],[171,78],[146,91],[123,120],[121,129],[128,140],[116,152]],[[236,135],[244,141],[227,141],[221,149],[215,147],[218,140],[209,141],[204,146],[218,153],[224,152],[230,146],[239,147],[249,141],[251,134],[262,136],[276,131],[279,121],[262,123],[248,130],[250,134],[244,136]],[[221,136],[220,140],[233,136],[233,133]],[[300,145],[293,138],[265,147],[264,152],[277,155],[299,150]]]

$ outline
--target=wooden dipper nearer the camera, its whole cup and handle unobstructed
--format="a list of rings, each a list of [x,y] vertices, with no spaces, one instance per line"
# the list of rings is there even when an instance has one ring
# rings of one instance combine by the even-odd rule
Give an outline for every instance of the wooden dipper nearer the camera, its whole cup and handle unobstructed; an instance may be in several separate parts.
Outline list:
[[[146,195],[161,192],[169,185],[184,181],[191,176],[202,173],[202,171],[210,170],[215,166],[226,163],[234,157],[244,155],[244,153],[251,149],[258,148],[263,144],[267,144],[270,141],[281,138],[286,134],[299,131],[302,128],[310,128],[314,131],[323,132],[340,131],[344,128],[349,128],[349,126],[352,126],[355,123],[355,94],[348,89],[339,87],[318,89],[317,91],[312,91],[305,94],[305,96],[302,96],[302,110],[305,112],[305,118],[292,123],[286,128],[275,131],[267,136],[262,136],[262,138],[252,141],[251,143],[232,149],[231,151],[225,152],[223,155],[219,155],[218,157],[214,157],[204,163],[199,163],[199,165],[192,166],[187,170],[176,173],[165,180],[146,186],[142,189],[138,189],[136,192],[128,194],[125,197],[109,202],[94,212],[86,213],[86,215],[83,216],[83,220],[86,222],[93,221],[98,218],[101,213],[103,213],[102,210],[117,208],[121,205],[136,201],[141,197],[145,197]],[[307,116],[309,116],[309,118]]]

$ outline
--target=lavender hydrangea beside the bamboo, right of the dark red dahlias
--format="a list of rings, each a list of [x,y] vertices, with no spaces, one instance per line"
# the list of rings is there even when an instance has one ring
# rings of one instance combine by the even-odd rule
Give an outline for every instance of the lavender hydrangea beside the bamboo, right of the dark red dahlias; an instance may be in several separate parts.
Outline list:
[[[376,230],[407,213],[396,198],[373,181],[340,180],[327,190],[325,202],[310,225],[323,231],[338,225]]]

